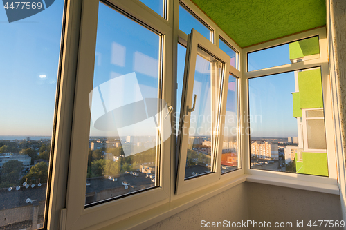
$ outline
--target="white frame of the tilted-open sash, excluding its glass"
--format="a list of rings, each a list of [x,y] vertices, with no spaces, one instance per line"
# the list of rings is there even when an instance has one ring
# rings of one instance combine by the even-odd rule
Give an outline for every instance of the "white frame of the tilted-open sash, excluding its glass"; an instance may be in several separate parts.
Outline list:
[[[201,175],[197,178],[191,178],[189,180],[185,180],[185,162],[187,157],[187,149],[188,149],[188,141],[189,141],[189,124],[190,124],[190,113],[188,112],[189,108],[192,108],[192,92],[193,92],[193,84],[194,84],[194,71],[196,67],[196,59],[197,59],[197,48],[201,47],[206,52],[210,53],[213,57],[219,59],[221,64],[224,66],[221,77],[221,87],[220,90],[220,99],[221,99],[221,108],[219,108],[219,114],[217,117],[217,140],[214,140],[212,145],[214,148],[215,159],[212,163],[213,167],[211,172],[206,175]],[[179,145],[179,165],[176,176],[176,194],[185,193],[186,191],[191,191],[193,189],[197,189],[200,186],[206,186],[212,182],[219,180],[221,169],[221,153],[222,153],[222,143],[220,140],[223,140],[223,135],[221,133],[221,127],[224,124],[224,116],[221,116],[226,111],[226,97],[228,84],[228,76],[229,76],[229,64],[230,57],[226,55],[222,50],[217,48],[214,44],[212,44],[208,39],[203,37],[197,30],[192,29],[191,34],[188,37],[188,48],[186,50],[186,61],[185,61],[185,73],[184,73],[184,86],[183,86],[183,97],[181,103],[181,120],[180,120],[180,135],[178,138]],[[184,116],[185,115],[185,116]],[[184,118],[183,118],[184,117]],[[186,124],[183,122],[186,121]]]

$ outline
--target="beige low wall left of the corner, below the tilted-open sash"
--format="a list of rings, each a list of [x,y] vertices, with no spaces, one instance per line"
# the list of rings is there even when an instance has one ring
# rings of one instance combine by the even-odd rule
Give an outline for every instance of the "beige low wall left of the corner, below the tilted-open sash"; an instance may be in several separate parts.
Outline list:
[[[147,230],[194,230],[201,229],[201,220],[206,222],[235,222],[248,219],[246,184],[239,184],[224,193],[172,215]],[[212,228],[210,228],[212,229]]]

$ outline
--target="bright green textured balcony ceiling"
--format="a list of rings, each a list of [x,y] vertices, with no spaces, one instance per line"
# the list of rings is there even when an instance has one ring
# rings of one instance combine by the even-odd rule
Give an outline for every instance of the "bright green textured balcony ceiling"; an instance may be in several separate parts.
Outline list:
[[[240,47],[324,26],[325,0],[192,0]]]

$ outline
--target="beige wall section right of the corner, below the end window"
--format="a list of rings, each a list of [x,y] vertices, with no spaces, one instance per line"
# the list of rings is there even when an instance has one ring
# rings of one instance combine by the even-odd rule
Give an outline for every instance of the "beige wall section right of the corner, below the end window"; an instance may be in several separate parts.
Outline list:
[[[248,216],[255,222],[292,222],[293,228],[287,229],[293,230],[309,229],[309,220],[343,220],[339,195],[251,182],[246,185]],[[304,228],[296,227],[297,220],[304,221]]]

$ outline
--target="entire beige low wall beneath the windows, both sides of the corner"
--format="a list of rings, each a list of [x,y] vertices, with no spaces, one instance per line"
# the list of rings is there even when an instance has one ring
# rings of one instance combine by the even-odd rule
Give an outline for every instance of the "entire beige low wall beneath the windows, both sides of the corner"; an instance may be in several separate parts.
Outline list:
[[[292,222],[292,228],[282,229],[307,229],[309,220],[342,220],[342,215],[339,195],[244,182],[146,230],[208,229],[201,227],[201,220]],[[304,221],[304,228],[295,227],[297,220]]]

